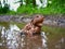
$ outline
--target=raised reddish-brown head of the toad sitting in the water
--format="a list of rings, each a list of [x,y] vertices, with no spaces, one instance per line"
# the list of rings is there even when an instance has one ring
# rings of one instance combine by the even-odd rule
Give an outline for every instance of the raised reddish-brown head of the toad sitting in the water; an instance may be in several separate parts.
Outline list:
[[[42,16],[42,15],[35,15],[35,17],[31,20],[31,23],[35,26],[41,27],[42,23],[43,23],[43,20],[44,20],[44,16]]]

